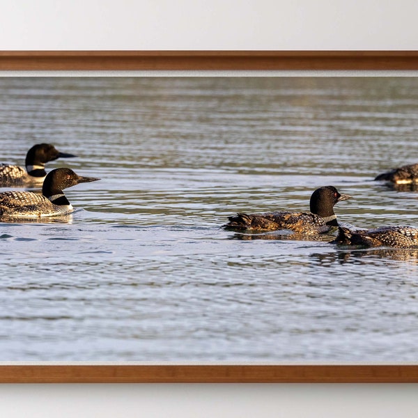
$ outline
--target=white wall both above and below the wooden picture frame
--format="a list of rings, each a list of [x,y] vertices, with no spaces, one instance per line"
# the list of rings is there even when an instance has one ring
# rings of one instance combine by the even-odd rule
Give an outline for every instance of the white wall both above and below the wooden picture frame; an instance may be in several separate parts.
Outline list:
[[[417,49],[416,0],[2,0],[1,49]],[[396,361],[396,359],[394,359]],[[1,385],[3,417],[412,417],[418,385]]]

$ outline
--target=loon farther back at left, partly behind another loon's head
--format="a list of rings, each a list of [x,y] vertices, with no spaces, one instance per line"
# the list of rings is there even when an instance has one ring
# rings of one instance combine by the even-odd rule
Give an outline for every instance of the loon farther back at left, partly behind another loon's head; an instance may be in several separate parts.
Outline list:
[[[47,175],[45,163],[60,157],[70,158],[75,155],[60,153],[51,144],[36,144],[26,154],[26,171],[19,166],[0,164],[0,187],[42,184]]]

